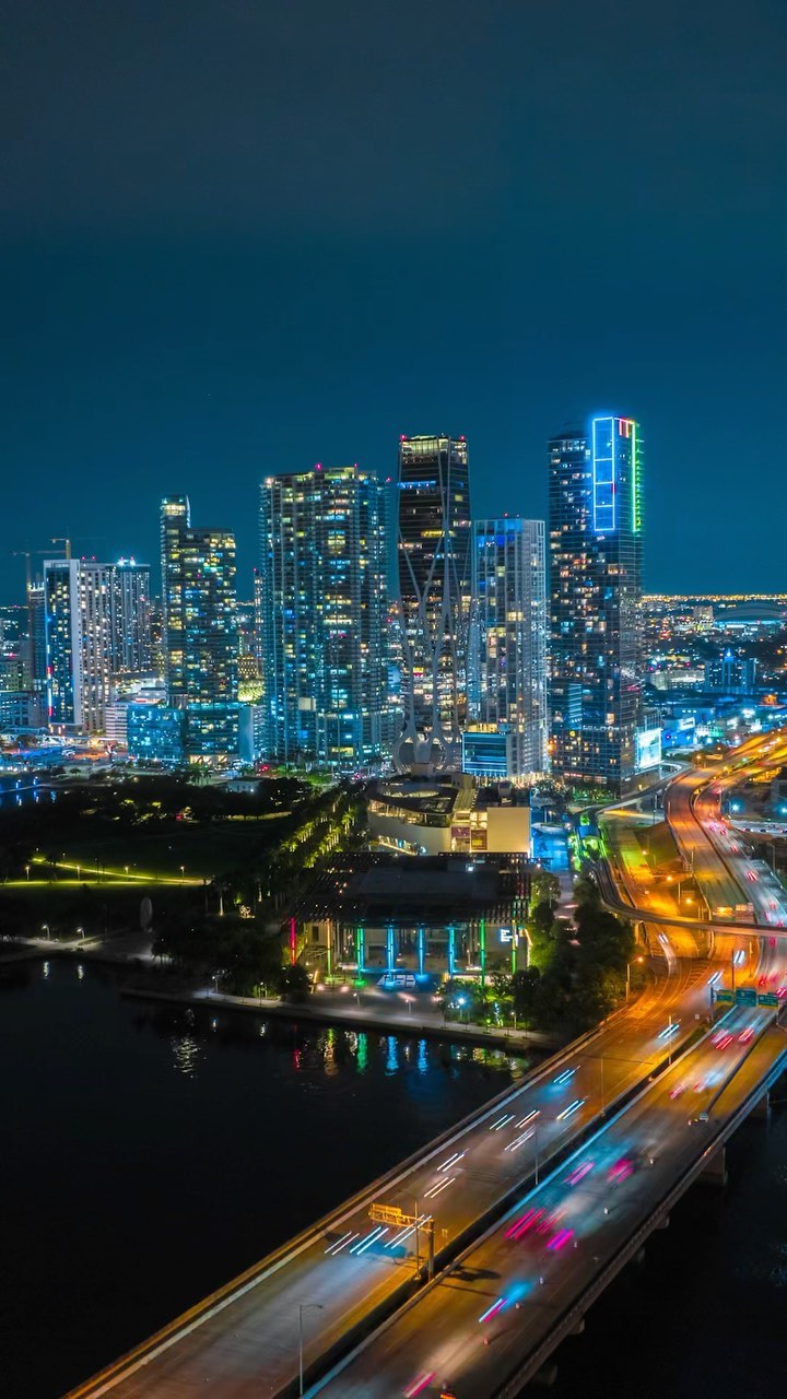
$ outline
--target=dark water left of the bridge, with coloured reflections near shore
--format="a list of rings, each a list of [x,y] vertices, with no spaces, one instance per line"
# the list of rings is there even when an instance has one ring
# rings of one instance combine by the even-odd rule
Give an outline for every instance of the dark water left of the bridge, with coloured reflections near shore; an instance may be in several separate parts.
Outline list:
[[[525,1069],[0,968],[0,1396],[57,1399]]]

